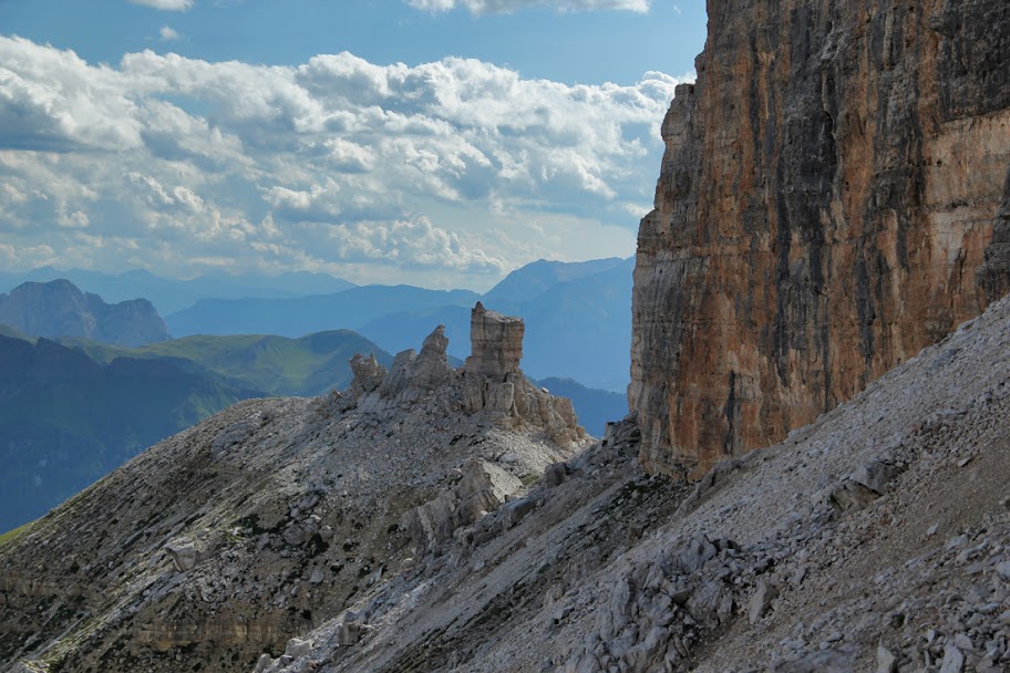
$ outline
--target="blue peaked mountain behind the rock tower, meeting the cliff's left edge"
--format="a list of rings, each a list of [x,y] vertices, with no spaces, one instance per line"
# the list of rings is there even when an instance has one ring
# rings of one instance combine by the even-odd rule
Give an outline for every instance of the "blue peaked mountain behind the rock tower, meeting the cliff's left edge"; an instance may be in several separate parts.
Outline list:
[[[571,265],[540,260],[513,271],[481,301],[526,321],[529,330],[523,362],[530,376],[569,377],[589,387],[625,393],[630,371],[633,267],[633,259]],[[542,283],[545,278],[554,280]],[[569,280],[563,280],[566,278]],[[521,301],[495,299],[526,291],[532,297]],[[389,313],[358,331],[396,352],[423,339],[432,324],[444,324],[450,353],[465,356],[468,318],[467,310],[458,306]],[[619,417],[622,415],[610,420]]]

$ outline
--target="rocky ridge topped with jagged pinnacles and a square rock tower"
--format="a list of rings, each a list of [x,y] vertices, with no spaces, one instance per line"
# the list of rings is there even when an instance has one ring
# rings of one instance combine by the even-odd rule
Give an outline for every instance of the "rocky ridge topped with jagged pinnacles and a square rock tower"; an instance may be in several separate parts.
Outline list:
[[[522,352],[493,320],[512,327],[477,324],[483,352]],[[512,503],[585,433],[517,361],[488,380],[445,348],[437,328],[388,372],[355,356],[342,393],[235,405],[0,542],[0,670],[249,671],[401,570],[452,565],[496,510],[527,514]],[[513,403],[465,404],[474,382]],[[340,642],[364,634],[346,619]]]

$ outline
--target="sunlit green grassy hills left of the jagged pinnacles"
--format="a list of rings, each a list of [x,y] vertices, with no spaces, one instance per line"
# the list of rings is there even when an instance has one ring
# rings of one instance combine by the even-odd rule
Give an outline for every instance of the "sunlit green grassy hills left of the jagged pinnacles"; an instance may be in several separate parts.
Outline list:
[[[383,365],[393,358],[355,332],[317,332],[299,339],[262,334],[186,336],[137,349],[61,340],[94,360],[109,363],[116,358],[186,360],[200,367],[240,381],[243,385],[271,395],[321,395],[350,385],[348,361],[355,354],[374,354]]]

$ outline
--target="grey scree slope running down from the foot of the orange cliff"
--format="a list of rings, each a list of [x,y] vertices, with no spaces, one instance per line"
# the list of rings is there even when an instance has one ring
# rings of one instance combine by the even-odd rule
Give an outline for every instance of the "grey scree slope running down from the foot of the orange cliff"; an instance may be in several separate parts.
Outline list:
[[[628,420],[255,671],[1000,673],[1008,412],[1002,300],[693,487]]]

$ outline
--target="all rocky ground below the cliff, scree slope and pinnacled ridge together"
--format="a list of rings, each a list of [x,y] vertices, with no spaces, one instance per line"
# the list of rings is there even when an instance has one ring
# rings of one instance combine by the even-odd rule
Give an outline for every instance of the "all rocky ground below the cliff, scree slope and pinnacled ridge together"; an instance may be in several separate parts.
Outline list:
[[[233,407],[6,542],[4,660],[1010,670],[1010,302],[694,486],[642,472],[633,420],[579,444],[508,324],[474,340],[498,363],[480,377],[439,364],[436,330],[339,396]]]

